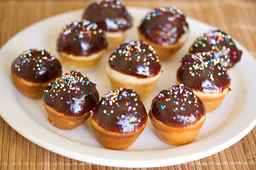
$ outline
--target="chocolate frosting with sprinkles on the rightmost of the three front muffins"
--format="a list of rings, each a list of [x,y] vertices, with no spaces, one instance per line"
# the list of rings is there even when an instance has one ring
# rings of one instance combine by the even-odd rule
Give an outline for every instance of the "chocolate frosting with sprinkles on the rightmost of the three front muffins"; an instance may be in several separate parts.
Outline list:
[[[157,94],[151,111],[157,120],[174,127],[196,124],[206,113],[201,99],[183,84],[173,85]]]

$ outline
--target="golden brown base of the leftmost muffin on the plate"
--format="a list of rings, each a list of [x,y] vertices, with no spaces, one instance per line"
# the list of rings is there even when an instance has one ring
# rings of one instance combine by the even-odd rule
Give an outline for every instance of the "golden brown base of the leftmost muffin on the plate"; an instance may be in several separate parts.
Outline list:
[[[48,87],[49,83],[53,82],[51,80],[47,83],[33,83],[31,81],[26,81],[24,78],[12,73],[13,83],[15,87],[19,90],[21,94],[31,98],[40,98],[44,94],[44,90]]]

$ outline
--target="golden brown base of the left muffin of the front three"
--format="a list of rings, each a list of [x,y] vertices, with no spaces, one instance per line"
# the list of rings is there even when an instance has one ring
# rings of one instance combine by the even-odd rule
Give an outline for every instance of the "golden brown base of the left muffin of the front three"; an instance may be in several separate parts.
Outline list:
[[[44,99],[43,99],[43,103],[44,103]],[[46,103],[44,103],[44,107],[45,107],[45,110],[47,111],[49,122],[52,125],[63,130],[70,130],[70,129],[75,129],[76,127],[79,127],[79,125],[83,124],[90,116],[90,111],[89,111],[79,117],[68,117],[63,113],[59,113],[58,111],[54,110],[54,108],[52,108],[51,106],[48,106]]]

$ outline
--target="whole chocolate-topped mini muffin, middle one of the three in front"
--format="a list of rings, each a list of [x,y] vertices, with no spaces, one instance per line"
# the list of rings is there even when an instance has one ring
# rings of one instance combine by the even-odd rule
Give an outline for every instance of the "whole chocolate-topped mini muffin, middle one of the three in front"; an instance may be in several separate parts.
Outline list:
[[[148,115],[140,96],[131,89],[115,89],[102,97],[90,115],[99,143],[109,149],[131,146],[147,125]]]

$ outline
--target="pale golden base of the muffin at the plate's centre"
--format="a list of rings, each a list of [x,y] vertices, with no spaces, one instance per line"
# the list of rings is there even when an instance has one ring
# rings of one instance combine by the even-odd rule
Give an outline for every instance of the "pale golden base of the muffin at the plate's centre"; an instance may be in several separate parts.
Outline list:
[[[109,63],[107,63],[106,66],[106,73],[108,74],[113,89],[126,87],[135,90],[136,93],[140,95],[141,100],[147,99],[161,75],[161,71],[159,71],[159,73],[154,77],[136,78],[135,76],[129,76],[112,69],[109,66]]]

